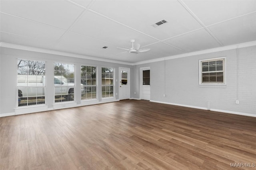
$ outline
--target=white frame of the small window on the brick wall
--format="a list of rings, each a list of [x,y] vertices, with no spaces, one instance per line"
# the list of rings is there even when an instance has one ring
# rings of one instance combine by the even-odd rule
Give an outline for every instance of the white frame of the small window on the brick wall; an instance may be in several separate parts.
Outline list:
[[[203,83],[202,82],[202,63],[206,61],[216,61],[216,60],[223,60],[223,83]],[[226,57],[218,57],[218,58],[211,58],[211,59],[202,59],[199,60],[199,85],[226,85]],[[213,71],[218,72],[218,71]]]

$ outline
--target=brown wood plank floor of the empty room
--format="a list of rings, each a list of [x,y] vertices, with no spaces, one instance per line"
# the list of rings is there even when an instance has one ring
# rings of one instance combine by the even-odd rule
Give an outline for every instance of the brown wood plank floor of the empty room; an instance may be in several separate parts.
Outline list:
[[[252,170],[256,117],[144,100],[16,115],[0,153],[1,170]]]

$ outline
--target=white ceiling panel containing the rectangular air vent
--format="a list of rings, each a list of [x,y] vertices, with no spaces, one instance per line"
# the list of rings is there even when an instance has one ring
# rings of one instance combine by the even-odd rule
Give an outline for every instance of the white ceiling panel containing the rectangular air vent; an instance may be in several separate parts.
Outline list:
[[[202,27],[178,1],[174,0],[99,0],[95,1],[90,9],[160,40]],[[168,23],[159,27],[152,26],[163,19]]]

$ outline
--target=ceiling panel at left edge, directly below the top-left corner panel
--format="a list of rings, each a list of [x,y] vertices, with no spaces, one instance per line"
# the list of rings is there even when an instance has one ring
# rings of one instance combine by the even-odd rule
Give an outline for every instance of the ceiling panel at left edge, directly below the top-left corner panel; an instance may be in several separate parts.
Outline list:
[[[48,25],[1,14],[0,30],[45,41],[58,40],[65,31]]]

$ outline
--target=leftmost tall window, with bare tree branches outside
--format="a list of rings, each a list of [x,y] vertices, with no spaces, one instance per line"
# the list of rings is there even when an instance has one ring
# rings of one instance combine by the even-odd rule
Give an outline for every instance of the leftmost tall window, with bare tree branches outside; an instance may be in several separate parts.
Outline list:
[[[18,59],[18,106],[45,104],[45,61]]]

